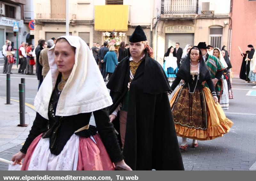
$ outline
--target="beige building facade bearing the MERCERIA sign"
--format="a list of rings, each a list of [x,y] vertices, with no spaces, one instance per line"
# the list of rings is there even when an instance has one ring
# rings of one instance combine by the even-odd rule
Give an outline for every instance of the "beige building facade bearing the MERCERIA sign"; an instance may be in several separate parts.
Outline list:
[[[176,42],[182,49],[202,41],[220,49],[228,46],[230,1],[221,7],[218,1],[162,0],[154,43],[156,60],[163,63],[164,53]]]

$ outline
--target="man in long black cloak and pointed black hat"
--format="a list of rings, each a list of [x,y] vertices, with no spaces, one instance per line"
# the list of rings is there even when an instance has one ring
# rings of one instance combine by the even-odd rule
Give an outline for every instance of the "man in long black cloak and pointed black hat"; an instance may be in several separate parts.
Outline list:
[[[167,95],[168,79],[151,58],[153,50],[141,26],[129,41],[128,56],[107,84],[113,101],[110,121],[121,135],[124,160],[132,170],[184,170]]]

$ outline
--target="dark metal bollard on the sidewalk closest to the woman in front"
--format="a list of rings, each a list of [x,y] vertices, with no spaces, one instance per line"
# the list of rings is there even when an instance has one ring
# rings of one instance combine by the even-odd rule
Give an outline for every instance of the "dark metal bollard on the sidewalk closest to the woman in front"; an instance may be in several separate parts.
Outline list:
[[[19,99],[20,99],[20,124],[18,126],[27,127],[25,124],[25,97],[24,97],[24,84],[19,84]]]

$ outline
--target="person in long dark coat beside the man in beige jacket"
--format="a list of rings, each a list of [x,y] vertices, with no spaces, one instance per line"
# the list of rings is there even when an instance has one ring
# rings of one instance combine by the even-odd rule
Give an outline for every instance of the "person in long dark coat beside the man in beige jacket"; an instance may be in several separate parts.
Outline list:
[[[41,86],[42,82],[43,82],[43,75],[42,75],[42,69],[43,66],[39,63],[39,57],[40,57],[40,53],[41,50],[47,47],[47,42],[45,40],[40,40],[39,41],[39,48],[36,47],[36,70],[37,70],[37,80],[39,81],[38,83],[38,89]]]

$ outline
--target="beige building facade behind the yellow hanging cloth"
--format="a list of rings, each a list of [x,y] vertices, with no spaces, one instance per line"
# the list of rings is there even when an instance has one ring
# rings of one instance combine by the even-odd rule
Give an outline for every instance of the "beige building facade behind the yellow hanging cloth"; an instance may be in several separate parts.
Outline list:
[[[125,37],[122,41],[129,43],[129,36],[134,31],[137,25],[141,25],[151,42],[153,33],[152,19],[154,15],[154,3],[157,0],[69,0],[69,34],[80,36],[85,42],[93,42],[103,44],[103,32],[94,29],[94,10],[97,5],[128,5],[128,22]],[[144,6],[152,11],[140,11]],[[36,0],[35,2],[35,41],[39,39],[48,40],[52,37],[58,38],[66,33],[66,1],[65,0]],[[141,13],[143,16],[141,16]],[[111,14],[111,12],[109,12]],[[108,15],[108,14],[107,14]],[[106,16],[102,14],[102,16]],[[112,16],[118,16],[112,13]],[[120,31],[118,31],[120,32]]]

